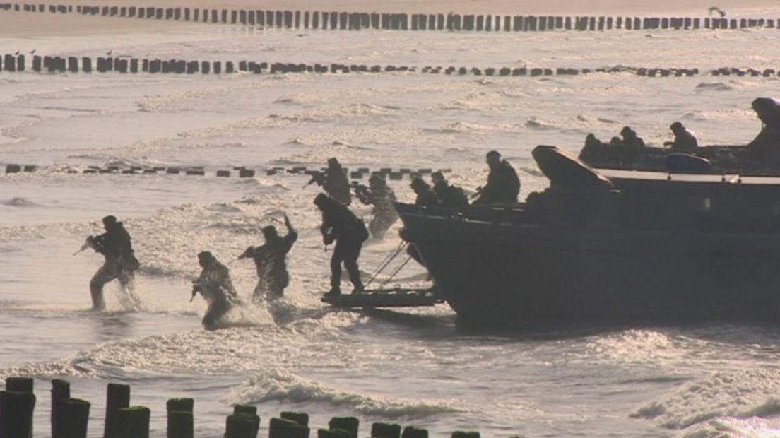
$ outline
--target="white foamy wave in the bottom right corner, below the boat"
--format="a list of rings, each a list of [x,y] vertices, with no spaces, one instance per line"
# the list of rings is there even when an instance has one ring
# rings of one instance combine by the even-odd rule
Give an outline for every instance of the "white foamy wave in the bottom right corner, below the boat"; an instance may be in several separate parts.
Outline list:
[[[668,429],[686,429],[718,417],[769,417],[780,413],[778,392],[780,371],[776,369],[714,373],[629,416],[654,419]]]

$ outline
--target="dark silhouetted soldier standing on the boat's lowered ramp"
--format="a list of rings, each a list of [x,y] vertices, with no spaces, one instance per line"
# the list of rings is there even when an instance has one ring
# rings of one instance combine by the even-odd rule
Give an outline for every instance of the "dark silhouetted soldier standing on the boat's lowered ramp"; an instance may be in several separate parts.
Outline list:
[[[355,292],[363,291],[363,281],[360,280],[360,270],[357,259],[363,242],[368,238],[366,224],[358,219],[344,204],[332,200],[320,193],[314,198],[314,205],[322,212],[322,241],[327,247],[336,242],[331,257],[331,290],[327,295],[341,294],[341,264],[344,263],[349,281],[352,281]]]

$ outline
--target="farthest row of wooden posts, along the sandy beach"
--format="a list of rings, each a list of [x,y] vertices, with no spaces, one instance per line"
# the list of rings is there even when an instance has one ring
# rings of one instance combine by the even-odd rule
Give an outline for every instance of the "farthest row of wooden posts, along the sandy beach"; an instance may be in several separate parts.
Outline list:
[[[288,29],[331,30],[688,30],[780,28],[780,19],[627,16],[519,16],[476,14],[406,14],[390,12],[269,11],[262,9],[160,8],[155,6],[46,5],[0,3],[0,11],[77,13],[137,19],[168,19]]]

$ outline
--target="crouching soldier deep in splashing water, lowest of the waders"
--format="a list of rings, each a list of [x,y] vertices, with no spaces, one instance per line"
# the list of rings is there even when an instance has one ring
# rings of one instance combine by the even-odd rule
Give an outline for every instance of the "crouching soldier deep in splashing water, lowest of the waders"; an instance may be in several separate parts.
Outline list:
[[[230,270],[208,251],[198,253],[197,261],[203,270],[193,281],[193,298],[200,292],[208,303],[208,309],[203,317],[203,327],[215,330],[217,323],[225,313],[238,302],[236,289],[230,281]],[[191,301],[191,300],[190,300]]]

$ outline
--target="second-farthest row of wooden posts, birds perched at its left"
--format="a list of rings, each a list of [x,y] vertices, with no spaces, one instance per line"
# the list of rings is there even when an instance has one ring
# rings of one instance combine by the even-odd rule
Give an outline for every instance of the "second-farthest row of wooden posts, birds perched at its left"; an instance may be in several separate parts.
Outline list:
[[[671,77],[671,76],[700,76],[700,69],[678,68],[647,68],[647,67],[610,67],[597,69],[557,69],[542,67],[442,67],[431,66],[419,68],[408,65],[346,65],[346,64],[300,64],[289,62],[251,62],[251,61],[185,61],[182,59],[148,59],[148,58],[110,58],[98,57],[94,60],[88,56],[77,58],[75,56],[41,56],[34,55],[32,70],[34,72],[49,73],[91,73],[91,72],[119,72],[119,73],[165,73],[165,74],[195,74],[204,75],[235,72],[250,72],[255,74],[269,73],[380,73],[380,72],[421,72],[424,74],[446,75],[472,75],[472,76],[576,76],[590,73],[631,73],[637,76]],[[93,70],[93,66],[96,68]],[[237,69],[236,69],[237,66]],[[26,72],[27,57],[25,55],[0,55],[0,71],[2,72]],[[705,74],[712,76],[780,76],[780,70],[775,69],[739,69],[736,67],[722,67],[719,69],[705,70]]]

